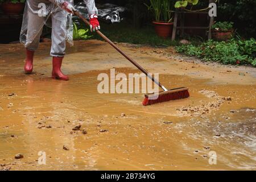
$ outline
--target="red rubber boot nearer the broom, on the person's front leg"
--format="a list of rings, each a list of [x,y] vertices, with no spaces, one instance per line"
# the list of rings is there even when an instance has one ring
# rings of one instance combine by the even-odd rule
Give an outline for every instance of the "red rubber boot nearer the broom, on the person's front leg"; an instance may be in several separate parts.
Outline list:
[[[63,57],[52,57],[52,78],[68,80],[68,76],[64,75],[60,70],[62,60]]]

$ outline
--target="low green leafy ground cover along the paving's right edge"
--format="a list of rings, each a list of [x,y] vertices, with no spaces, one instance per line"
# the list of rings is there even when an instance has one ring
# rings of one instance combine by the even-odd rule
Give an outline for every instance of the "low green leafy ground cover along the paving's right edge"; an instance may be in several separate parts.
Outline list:
[[[216,61],[223,64],[250,64],[256,67],[256,42],[250,40],[230,40],[214,42],[209,40],[199,46],[183,45],[176,47],[177,52],[196,56],[204,61]]]

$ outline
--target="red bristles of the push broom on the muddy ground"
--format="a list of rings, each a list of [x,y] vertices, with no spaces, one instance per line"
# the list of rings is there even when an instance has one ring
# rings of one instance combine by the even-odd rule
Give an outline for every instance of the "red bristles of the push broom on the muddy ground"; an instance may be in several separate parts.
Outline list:
[[[173,93],[159,94],[158,98],[153,99],[153,100],[149,99],[148,97],[145,97],[142,104],[144,106],[146,106],[146,105],[156,104],[156,103],[159,103],[159,102],[179,100],[181,98],[187,98],[187,97],[189,97],[188,90],[182,90],[182,91],[177,91],[177,92],[173,92]]]

